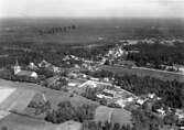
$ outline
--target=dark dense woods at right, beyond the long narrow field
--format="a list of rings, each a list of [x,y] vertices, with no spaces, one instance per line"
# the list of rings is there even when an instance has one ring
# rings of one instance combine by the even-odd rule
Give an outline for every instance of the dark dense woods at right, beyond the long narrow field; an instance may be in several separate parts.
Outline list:
[[[161,68],[161,65],[180,64],[184,65],[184,44],[175,43],[172,46],[160,44],[140,43],[127,46],[126,50],[137,50],[139,53],[129,53],[127,59],[134,61],[138,66],[150,64],[154,68]]]

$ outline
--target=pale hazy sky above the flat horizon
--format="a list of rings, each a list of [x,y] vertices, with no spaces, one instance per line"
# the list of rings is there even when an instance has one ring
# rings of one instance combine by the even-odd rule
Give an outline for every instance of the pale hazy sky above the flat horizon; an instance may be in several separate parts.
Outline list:
[[[0,18],[184,18],[184,0],[0,0]]]

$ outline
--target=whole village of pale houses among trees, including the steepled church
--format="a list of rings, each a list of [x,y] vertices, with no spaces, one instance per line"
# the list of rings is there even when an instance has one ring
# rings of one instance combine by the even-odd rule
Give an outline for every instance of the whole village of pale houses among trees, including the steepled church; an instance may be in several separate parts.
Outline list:
[[[152,41],[152,40],[151,40]],[[154,41],[154,40],[153,40]],[[121,41],[122,42],[122,41]],[[137,44],[131,43],[130,44]],[[14,62],[14,66],[11,68],[4,68],[1,73],[9,72],[6,76],[1,76],[4,79],[14,82],[32,83],[42,86],[43,88],[50,88],[58,91],[65,91],[71,95],[78,95],[83,98],[87,98],[101,106],[107,106],[107,109],[116,108],[122,109],[130,113],[131,111],[147,107],[147,109],[155,115],[156,117],[164,119],[170,115],[174,116],[177,120],[175,124],[178,129],[184,129],[184,109],[173,109],[166,106],[152,107],[155,102],[162,98],[156,96],[154,93],[145,95],[136,95],[131,91],[122,89],[121,86],[115,85],[115,77],[107,75],[105,76],[93,76],[93,73],[106,73],[102,71],[104,65],[109,66],[121,66],[125,68],[141,68],[138,67],[133,62],[126,61],[129,53],[139,53],[139,51],[126,51],[123,46],[129,43],[123,41],[123,45],[116,45],[110,48],[106,55],[98,55],[100,61],[89,61],[75,55],[66,55],[63,62],[72,67],[58,67],[43,59],[39,64],[30,63],[28,66],[21,66],[19,61]],[[151,43],[150,43],[151,44]],[[75,62],[80,64],[75,64]],[[184,75],[184,67],[177,66],[165,66],[163,73],[167,73],[167,69],[174,68],[175,74]],[[152,68],[147,68],[152,69]],[[11,73],[10,73],[11,72]],[[44,97],[44,96],[43,96]],[[44,100],[45,97],[44,97]],[[105,120],[105,119],[104,119]],[[102,119],[100,119],[102,121]],[[123,122],[122,122],[123,123]]]

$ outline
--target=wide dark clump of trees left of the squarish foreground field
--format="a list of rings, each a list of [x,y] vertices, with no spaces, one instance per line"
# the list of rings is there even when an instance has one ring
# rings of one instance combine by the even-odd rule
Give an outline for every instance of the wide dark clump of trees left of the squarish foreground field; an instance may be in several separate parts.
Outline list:
[[[84,104],[75,107],[71,101],[59,102],[57,109],[50,110],[45,120],[53,123],[63,123],[68,120],[84,122],[85,120],[93,120],[95,109],[97,106]]]

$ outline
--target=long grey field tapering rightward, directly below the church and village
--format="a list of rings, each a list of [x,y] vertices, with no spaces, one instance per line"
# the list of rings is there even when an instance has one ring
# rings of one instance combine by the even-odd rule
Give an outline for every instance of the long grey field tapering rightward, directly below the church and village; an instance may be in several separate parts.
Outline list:
[[[13,87],[13,88],[25,88],[25,89],[32,89],[37,93],[43,93],[46,97],[47,100],[52,102],[52,107],[55,108],[57,104],[62,101],[69,100],[74,106],[80,106],[83,104],[95,104],[98,105],[98,102],[88,100],[82,96],[73,95],[64,91],[58,91],[58,90],[52,90],[50,88],[41,87],[35,84],[29,84],[29,83],[14,83],[14,82],[9,82],[4,79],[0,79],[1,86],[3,87]]]

